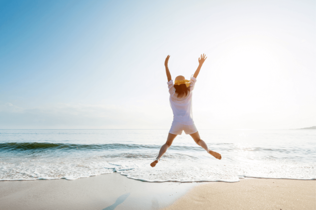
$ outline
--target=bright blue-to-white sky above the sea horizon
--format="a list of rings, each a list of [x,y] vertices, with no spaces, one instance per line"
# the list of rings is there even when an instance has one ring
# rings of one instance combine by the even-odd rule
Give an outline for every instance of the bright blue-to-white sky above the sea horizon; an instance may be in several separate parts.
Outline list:
[[[312,0],[0,0],[0,129],[169,129],[203,53],[197,129],[314,126],[315,38]]]

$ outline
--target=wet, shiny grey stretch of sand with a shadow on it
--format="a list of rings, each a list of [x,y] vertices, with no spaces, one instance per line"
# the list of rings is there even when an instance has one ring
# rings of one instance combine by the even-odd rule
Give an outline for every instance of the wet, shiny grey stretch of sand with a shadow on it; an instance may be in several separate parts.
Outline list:
[[[197,185],[142,182],[119,173],[72,181],[0,181],[0,210],[161,209]]]

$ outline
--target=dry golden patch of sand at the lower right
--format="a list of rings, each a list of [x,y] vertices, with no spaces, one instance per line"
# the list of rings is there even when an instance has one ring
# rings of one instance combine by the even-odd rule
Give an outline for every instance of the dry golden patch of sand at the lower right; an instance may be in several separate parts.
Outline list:
[[[315,210],[315,194],[315,180],[246,178],[201,184],[164,209]]]

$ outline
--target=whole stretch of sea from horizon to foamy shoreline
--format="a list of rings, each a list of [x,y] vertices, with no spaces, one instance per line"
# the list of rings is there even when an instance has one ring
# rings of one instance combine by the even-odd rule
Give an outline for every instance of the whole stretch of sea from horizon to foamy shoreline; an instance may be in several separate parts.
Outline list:
[[[315,179],[315,130],[200,130],[217,160],[178,135],[152,168],[168,130],[0,130],[0,180],[120,173],[147,182]]]

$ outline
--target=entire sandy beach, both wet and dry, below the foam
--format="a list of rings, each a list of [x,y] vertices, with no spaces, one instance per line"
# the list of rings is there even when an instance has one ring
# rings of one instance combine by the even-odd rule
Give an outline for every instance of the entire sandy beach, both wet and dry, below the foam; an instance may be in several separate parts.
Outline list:
[[[315,209],[315,180],[148,183],[118,173],[73,181],[1,181],[0,209]]]

